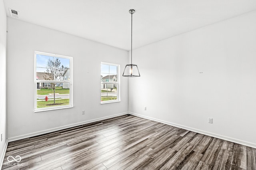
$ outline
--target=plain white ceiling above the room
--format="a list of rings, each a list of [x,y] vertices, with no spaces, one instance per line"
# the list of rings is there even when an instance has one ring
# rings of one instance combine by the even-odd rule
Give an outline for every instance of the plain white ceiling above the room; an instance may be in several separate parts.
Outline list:
[[[18,20],[130,50],[256,10],[256,0],[4,0]]]

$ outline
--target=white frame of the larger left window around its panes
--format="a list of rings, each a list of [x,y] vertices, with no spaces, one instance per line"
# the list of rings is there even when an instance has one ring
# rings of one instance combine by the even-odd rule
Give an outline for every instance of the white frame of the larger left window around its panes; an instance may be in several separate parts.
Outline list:
[[[50,57],[57,57],[57,58],[64,58],[69,59],[70,61],[70,79],[69,80],[62,80],[62,81],[52,81],[52,80],[37,80],[36,79],[36,55],[46,55]],[[62,105],[62,106],[53,106],[53,107],[43,107],[37,108],[37,83],[69,83],[69,105]],[[73,57],[65,56],[65,55],[58,55],[52,53],[45,53],[40,51],[34,51],[34,112],[43,112],[43,111],[52,111],[58,109],[67,109],[73,107]]]

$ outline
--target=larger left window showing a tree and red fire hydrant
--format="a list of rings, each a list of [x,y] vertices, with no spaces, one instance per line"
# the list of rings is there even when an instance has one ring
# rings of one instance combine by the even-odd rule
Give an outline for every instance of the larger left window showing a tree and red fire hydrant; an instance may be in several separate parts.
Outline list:
[[[35,112],[72,107],[72,57],[35,51],[34,79]]]

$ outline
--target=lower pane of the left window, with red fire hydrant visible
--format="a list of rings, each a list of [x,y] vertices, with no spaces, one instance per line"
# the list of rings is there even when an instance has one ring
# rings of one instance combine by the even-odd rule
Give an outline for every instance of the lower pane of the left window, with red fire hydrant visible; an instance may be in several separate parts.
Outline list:
[[[36,108],[70,105],[70,83],[37,83],[36,98]]]

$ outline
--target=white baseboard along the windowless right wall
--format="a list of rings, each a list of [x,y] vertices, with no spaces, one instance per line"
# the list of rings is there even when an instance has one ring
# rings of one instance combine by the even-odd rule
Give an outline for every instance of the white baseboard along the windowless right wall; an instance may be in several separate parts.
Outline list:
[[[227,141],[234,142],[234,143],[237,143],[237,144],[242,144],[242,145],[245,145],[245,146],[256,148],[256,144],[246,142],[246,141],[243,141],[243,140],[230,138],[230,137],[227,137],[227,136],[222,136],[222,135],[219,135],[219,134],[214,134],[214,133],[211,133],[211,132],[206,132],[204,130],[199,130],[199,129],[196,129],[196,128],[190,128],[190,127],[178,125],[178,124],[171,123],[171,122],[162,121],[162,120],[159,120],[159,119],[155,119],[155,118],[152,118],[152,117],[148,117],[148,116],[144,116],[144,115],[140,115],[140,114],[136,114],[136,113],[132,113],[132,112],[129,112],[129,114],[134,115],[134,116],[138,116],[138,117],[142,117],[142,118],[145,118],[145,119],[150,119],[152,121],[164,123],[166,125],[171,125],[171,126],[174,126],[174,127],[183,128],[183,129],[190,130],[190,131],[193,131],[193,132],[197,132],[197,133],[200,133],[200,134],[205,134],[207,136],[212,136],[214,138],[219,138],[219,139],[227,140]]]

